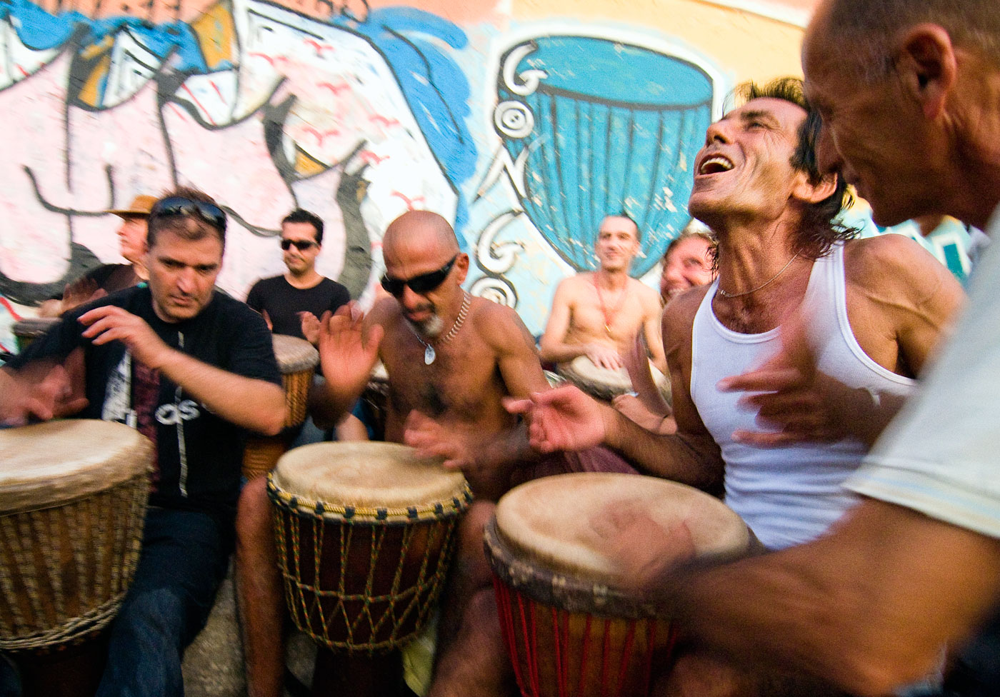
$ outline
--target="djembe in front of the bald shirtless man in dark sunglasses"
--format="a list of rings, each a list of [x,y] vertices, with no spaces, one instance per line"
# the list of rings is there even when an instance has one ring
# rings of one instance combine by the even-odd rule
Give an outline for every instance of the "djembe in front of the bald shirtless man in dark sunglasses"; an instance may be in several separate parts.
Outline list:
[[[443,586],[465,478],[404,445],[316,443],[282,456],[267,493],[292,620],[321,648],[313,694],[390,680]]]

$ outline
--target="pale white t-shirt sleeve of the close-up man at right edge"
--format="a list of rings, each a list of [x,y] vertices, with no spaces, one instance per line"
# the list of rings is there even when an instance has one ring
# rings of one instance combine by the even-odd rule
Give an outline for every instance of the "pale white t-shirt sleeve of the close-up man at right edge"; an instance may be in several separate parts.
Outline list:
[[[1000,240],[1000,209],[988,228]],[[845,486],[1000,537],[1000,243],[939,359]]]

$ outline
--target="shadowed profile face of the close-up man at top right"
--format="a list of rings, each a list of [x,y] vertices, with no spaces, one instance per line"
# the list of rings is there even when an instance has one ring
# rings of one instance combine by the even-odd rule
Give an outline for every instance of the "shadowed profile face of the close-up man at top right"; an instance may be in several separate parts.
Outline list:
[[[941,192],[929,176],[933,149],[922,137],[922,116],[895,72],[865,83],[849,56],[812,28],[803,44],[806,94],[823,118],[817,146],[820,170],[841,170],[872,207],[880,225],[929,212]]]

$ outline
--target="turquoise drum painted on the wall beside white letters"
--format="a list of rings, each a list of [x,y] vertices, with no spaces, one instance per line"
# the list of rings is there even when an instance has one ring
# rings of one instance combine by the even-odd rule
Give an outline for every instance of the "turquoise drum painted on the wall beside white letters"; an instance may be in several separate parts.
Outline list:
[[[601,219],[643,231],[632,273],[649,271],[690,219],[689,166],[711,121],[714,85],[698,66],[648,48],[547,36],[501,58],[494,127],[535,227],[577,270],[596,268]]]

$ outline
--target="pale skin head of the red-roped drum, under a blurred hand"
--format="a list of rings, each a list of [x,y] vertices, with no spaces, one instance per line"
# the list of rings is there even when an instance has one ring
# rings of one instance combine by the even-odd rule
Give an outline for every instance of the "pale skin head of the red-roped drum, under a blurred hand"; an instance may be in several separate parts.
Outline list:
[[[636,515],[664,534],[681,523],[699,556],[737,553],[749,533],[736,513],[697,489],[634,474],[577,473],[515,487],[497,504],[499,535],[519,560],[589,582],[622,586],[609,539]]]

